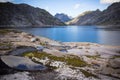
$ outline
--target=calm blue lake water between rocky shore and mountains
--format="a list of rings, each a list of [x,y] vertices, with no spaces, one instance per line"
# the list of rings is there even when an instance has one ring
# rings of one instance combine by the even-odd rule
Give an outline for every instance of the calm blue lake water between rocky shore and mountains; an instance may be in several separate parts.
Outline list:
[[[60,42],[93,42],[120,45],[119,29],[98,29],[97,26],[54,26],[48,28],[21,28],[21,30]]]

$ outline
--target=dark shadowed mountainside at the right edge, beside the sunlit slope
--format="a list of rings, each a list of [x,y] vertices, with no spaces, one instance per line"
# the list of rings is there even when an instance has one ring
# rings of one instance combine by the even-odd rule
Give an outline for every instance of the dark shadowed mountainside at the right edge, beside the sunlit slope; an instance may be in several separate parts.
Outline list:
[[[110,5],[96,21],[99,21],[97,24],[120,25],[120,2]]]

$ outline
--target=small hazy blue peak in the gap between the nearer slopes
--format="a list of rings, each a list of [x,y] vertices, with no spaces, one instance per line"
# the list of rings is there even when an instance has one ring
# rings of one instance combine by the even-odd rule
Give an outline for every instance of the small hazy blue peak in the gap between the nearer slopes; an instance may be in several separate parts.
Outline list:
[[[55,14],[55,17],[58,18],[59,20],[61,20],[62,22],[68,22],[68,21],[72,20],[72,18],[70,16],[68,16],[67,14],[64,14],[64,13],[57,13],[57,14]]]

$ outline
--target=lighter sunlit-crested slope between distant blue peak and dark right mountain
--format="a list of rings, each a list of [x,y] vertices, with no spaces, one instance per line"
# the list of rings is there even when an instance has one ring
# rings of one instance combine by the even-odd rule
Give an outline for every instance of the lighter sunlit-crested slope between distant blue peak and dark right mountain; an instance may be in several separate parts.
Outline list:
[[[67,24],[72,25],[91,25],[94,24],[95,18],[101,14],[101,11],[86,11],[80,14],[78,17],[73,19],[72,21],[67,22]]]

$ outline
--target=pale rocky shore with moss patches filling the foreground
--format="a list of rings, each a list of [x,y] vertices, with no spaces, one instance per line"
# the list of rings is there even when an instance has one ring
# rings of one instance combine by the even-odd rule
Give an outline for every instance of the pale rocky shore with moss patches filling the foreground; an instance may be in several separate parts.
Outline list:
[[[62,43],[3,29],[0,30],[0,57],[0,80],[120,80],[120,46]],[[10,57],[32,61],[33,65],[21,60],[23,66]],[[14,67],[19,63],[22,68]],[[29,67],[34,64],[46,69],[31,71]]]

